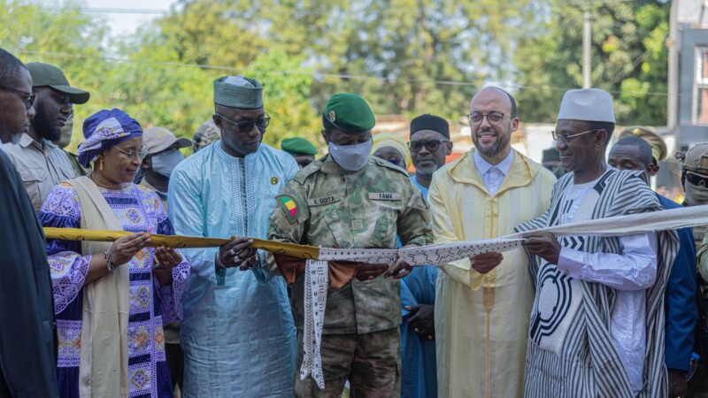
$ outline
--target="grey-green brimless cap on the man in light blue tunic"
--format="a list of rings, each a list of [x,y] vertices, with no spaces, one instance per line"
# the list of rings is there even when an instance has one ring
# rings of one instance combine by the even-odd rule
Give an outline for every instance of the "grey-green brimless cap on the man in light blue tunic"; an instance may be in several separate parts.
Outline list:
[[[263,108],[263,86],[242,75],[214,80],[214,103],[239,109]]]

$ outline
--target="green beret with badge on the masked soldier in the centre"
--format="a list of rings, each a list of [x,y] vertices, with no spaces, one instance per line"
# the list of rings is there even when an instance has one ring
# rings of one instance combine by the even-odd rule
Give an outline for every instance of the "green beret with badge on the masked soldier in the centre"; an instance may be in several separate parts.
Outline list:
[[[356,94],[340,93],[331,96],[322,115],[338,130],[347,134],[366,133],[376,124],[369,104]]]

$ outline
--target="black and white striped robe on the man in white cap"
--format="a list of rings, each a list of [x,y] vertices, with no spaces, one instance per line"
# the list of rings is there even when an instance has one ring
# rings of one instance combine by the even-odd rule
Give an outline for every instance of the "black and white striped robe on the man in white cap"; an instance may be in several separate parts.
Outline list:
[[[563,176],[553,187],[549,209],[543,216],[517,227],[519,232],[559,224],[566,189],[573,186],[573,173]],[[592,218],[608,218],[644,211],[663,210],[657,196],[643,180],[642,172],[620,172],[608,169],[593,188],[599,194]],[[664,364],[664,290],[673,258],[679,249],[674,231],[658,232],[657,275],[654,285],[645,292],[646,351],[643,367],[643,390],[640,397],[667,395],[666,366]],[[567,237],[563,246],[596,253],[621,254],[617,237]],[[530,272],[536,293],[531,312],[531,326],[527,342],[524,396],[526,397],[631,397],[633,396],[627,372],[612,344],[611,322],[616,290],[600,283],[580,280],[571,292],[572,278],[560,272],[556,264],[531,256]],[[544,302],[546,314],[539,316],[539,298],[542,287],[555,289],[551,306]],[[548,293],[548,292],[546,292]],[[571,296],[580,297],[570,305]],[[543,296],[544,301],[549,295]],[[578,304],[578,302],[580,302]],[[569,319],[566,319],[570,317]],[[535,319],[536,318],[536,319]],[[558,325],[566,322],[563,333]],[[535,325],[536,324],[536,325]],[[561,334],[553,336],[556,332]],[[543,348],[548,339],[556,349]],[[543,339],[547,339],[543,341]],[[548,344],[546,344],[548,346]]]

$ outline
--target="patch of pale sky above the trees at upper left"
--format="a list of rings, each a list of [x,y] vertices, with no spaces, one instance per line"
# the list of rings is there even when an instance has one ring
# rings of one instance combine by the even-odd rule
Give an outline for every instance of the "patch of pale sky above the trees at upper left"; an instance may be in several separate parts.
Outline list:
[[[161,16],[150,11],[168,11],[175,0],[83,0],[91,13],[104,18],[113,37],[132,34],[135,30]],[[121,11],[121,12],[107,12]],[[127,12],[127,11],[143,11]],[[148,12],[145,12],[148,11]]]

